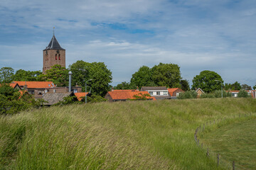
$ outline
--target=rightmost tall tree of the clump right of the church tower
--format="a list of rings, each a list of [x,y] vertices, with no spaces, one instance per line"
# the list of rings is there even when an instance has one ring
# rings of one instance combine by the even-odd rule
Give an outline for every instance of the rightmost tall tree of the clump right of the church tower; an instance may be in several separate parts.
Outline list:
[[[87,85],[92,88],[92,93],[100,96],[105,96],[107,91],[110,91],[110,83],[112,81],[112,72],[107,69],[104,62],[92,62],[89,70]]]

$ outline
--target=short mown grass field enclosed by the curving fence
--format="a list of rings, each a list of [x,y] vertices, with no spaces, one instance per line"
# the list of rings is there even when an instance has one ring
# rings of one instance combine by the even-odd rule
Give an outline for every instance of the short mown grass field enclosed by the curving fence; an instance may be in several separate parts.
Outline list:
[[[201,140],[213,152],[221,155],[221,161],[233,162],[238,169],[256,167],[256,118],[233,120],[203,133]]]

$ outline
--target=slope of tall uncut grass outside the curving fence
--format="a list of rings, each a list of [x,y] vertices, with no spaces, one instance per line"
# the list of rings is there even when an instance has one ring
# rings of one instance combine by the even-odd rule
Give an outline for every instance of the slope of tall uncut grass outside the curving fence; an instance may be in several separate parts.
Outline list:
[[[221,169],[195,145],[194,130],[207,120],[240,113],[256,113],[256,100],[132,101],[30,111],[0,119],[0,164],[14,169]]]

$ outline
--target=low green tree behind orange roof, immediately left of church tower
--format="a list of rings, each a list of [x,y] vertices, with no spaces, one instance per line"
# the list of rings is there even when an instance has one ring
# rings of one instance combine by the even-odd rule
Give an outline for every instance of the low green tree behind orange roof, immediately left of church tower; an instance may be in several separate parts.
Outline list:
[[[15,81],[41,81],[39,76],[43,74],[41,71],[26,71],[18,69],[12,79]]]

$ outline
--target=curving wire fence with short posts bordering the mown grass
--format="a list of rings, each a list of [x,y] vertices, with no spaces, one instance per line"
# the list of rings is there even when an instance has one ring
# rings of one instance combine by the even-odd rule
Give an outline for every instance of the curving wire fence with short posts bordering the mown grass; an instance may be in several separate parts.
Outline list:
[[[239,115],[233,115],[230,117],[225,117],[225,118],[219,118],[216,120],[209,120],[206,123],[203,123],[203,125],[200,125],[196,128],[195,133],[194,133],[194,140],[196,142],[196,145],[198,147],[201,147],[206,152],[206,157],[209,159],[213,160],[217,164],[217,166],[221,166],[226,169],[242,169],[242,167],[239,164],[236,164],[235,161],[230,161],[228,158],[225,158],[223,155],[220,155],[220,153],[213,152],[212,150],[209,149],[208,146],[204,145],[203,142],[198,138],[198,135],[206,130],[206,128],[210,127],[211,125],[216,125],[218,123],[225,123],[227,120],[230,119],[235,119],[235,118],[247,118],[247,117],[252,117],[255,116],[255,114],[239,114]]]

